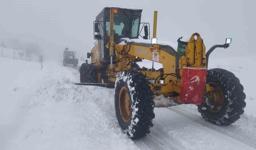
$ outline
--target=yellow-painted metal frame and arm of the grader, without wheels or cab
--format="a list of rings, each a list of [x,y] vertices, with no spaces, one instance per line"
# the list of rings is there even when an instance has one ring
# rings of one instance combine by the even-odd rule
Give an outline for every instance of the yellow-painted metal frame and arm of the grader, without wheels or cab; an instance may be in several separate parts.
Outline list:
[[[111,10],[110,10],[111,12]],[[115,64],[109,64],[106,76],[108,76],[108,81],[114,83],[116,80],[116,75],[119,72],[123,72],[131,69],[128,62],[138,62],[143,59],[152,60],[152,53],[157,52],[159,54],[158,61],[162,64],[163,70],[140,70],[146,75],[148,80],[156,80],[156,83],[151,83],[151,90],[156,95],[163,94],[165,97],[174,97],[173,94],[180,94],[180,86],[182,83],[182,73],[183,67],[190,68],[207,68],[206,61],[206,49],[203,43],[203,39],[198,33],[192,34],[188,44],[186,46],[186,55],[180,56],[177,52],[174,52],[173,48],[170,46],[163,45],[152,45],[143,43],[126,43],[126,45],[116,44],[113,42],[113,18],[112,13],[110,13],[110,43],[106,45],[106,48],[110,49],[110,56],[116,53]],[[156,16],[156,15],[155,15]],[[156,19],[154,18],[154,24],[156,24]],[[154,26],[154,35],[156,34],[156,26]],[[100,72],[101,62],[99,61],[100,53],[99,46],[96,44],[92,52],[92,63],[95,64],[98,70],[98,83],[102,81],[102,72]],[[176,74],[176,76],[170,76],[168,74]],[[158,78],[159,77],[159,78]],[[160,83],[160,80],[164,80],[164,83]],[[155,88],[158,87],[158,90]],[[159,90],[160,89],[160,90]],[[206,92],[214,90],[208,84],[206,84]],[[179,103],[179,96],[175,96],[176,101]]]

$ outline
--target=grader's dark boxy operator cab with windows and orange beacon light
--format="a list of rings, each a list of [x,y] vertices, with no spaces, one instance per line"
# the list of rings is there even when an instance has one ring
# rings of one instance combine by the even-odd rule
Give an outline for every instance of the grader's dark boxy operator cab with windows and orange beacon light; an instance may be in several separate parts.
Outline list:
[[[144,27],[144,39],[148,39],[149,23],[141,23],[141,9],[114,9],[114,42],[119,43],[121,38],[139,38]],[[94,21],[94,39],[97,40],[91,53],[87,58],[92,59],[92,63],[110,63],[110,54],[107,44],[110,42],[110,7],[104,8]],[[113,62],[116,61],[114,51]]]

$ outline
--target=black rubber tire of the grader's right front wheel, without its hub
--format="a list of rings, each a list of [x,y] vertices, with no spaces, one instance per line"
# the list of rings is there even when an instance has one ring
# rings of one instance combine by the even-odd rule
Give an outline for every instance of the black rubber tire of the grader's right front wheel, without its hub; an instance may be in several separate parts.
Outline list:
[[[204,107],[206,104],[202,104],[202,106],[198,106],[198,111],[203,118],[213,124],[230,125],[244,113],[244,107],[246,106],[244,87],[232,72],[220,68],[207,71],[206,83],[211,82],[217,84],[222,90],[223,106],[218,112],[212,112]]]

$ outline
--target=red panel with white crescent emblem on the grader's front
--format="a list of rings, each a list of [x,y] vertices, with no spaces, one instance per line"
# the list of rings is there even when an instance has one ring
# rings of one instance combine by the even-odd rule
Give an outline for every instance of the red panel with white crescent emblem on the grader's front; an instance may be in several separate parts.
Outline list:
[[[206,85],[206,68],[183,68],[180,100],[182,103],[201,105]]]

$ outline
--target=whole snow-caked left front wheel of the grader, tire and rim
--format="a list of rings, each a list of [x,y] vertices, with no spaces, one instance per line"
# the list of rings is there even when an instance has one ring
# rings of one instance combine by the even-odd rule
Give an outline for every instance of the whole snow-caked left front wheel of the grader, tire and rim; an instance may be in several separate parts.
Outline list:
[[[144,74],[128,70],[116,79],[115,110],[118,124],[132,139],[150,133],[154,114],[153,92]]]

